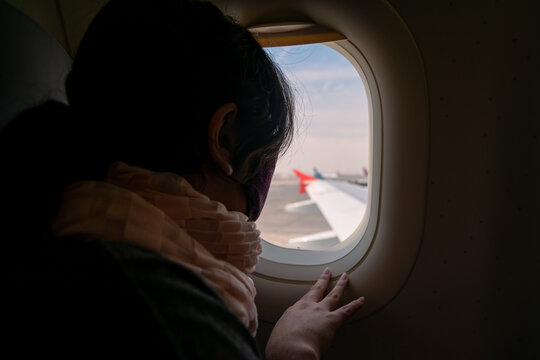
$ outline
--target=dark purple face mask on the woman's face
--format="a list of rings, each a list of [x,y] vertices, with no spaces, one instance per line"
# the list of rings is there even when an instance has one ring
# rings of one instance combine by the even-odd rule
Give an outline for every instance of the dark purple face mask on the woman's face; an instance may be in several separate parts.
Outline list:
[[[262,162],[255,170],[254,177],[244,184],[247,213],[250,221],[257,220],[261,214],[275,169],[276,160]]]

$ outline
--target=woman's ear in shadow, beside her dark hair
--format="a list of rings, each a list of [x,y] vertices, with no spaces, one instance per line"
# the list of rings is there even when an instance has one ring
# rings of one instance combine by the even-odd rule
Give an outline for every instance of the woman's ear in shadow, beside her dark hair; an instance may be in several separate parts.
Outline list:
[[[231,153],[234,143],[233,123],[237,113],[236,104],[222,105],[212,115],[208,126],[210,156],[227,176],[231,176],[234,171],[231,165]]]

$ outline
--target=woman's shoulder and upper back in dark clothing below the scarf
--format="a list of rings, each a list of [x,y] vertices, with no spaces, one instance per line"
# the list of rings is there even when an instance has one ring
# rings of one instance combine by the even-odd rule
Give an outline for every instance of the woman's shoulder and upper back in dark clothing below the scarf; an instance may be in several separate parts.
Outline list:
[[[41,325],[55,323],[45,345],[62,339],[70,352],[123,357],[261,357],[249,330],[188,268],[128,244],[51,240],[24,286],[27,300],[46,297],[20,309]]]

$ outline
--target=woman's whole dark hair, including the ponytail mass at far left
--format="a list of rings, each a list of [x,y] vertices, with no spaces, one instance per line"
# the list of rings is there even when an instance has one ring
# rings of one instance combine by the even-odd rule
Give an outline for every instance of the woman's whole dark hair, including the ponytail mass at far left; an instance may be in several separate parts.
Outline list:
[[[69,106],[30,109],[0,135],[4,208],[33,206],[45,222],[65,185],[102,180],[111,162],[198,171],[211,161],[209,120],[226,103],[238,107],[232,155],[233,167],[248,168],[241,182],[293,134],[283,74],[248,30],[210,3],[110,1],[80,44],[66,92]],[[24,161],[13,158],[28,151]]]

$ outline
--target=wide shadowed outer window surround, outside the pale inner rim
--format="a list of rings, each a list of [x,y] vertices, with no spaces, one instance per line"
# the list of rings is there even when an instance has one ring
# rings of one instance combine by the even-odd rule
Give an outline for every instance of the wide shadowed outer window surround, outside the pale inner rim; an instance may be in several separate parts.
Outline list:
[[[385,307],[404,287],[418,256],[426,216],[429,171],[429,100],[423,59],[406,23],[386,1],[350,3],[326,0],[213,0],[244,26],[311,21],[332,27],[361,49],[376,79],[381,101],[382,152],[378,223],[374,241],[360,266],[349,271],[344,301],[360,295],[366,304],[350,320]],[[373,171],[371,171],[373,174]],[[273,264],[276,267],[283,265]],[[309,266],[291,265],[283,278],[253,276],[258,295],[261,339],[313,280],[290,280]],[[330,264],[334,280],[339,273]],[[268,327],[270,326],[270,327]]]

